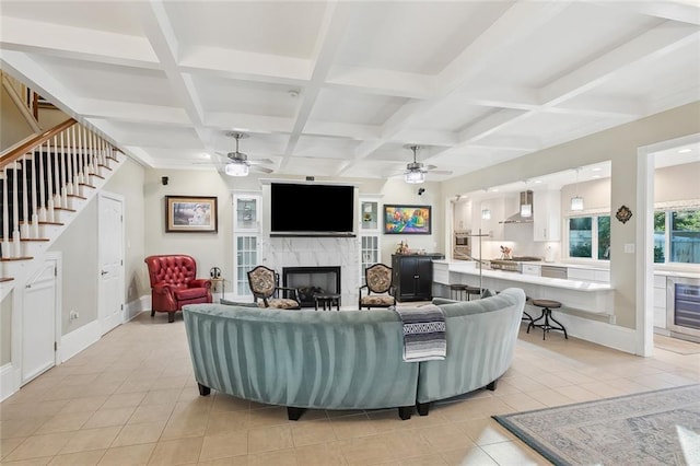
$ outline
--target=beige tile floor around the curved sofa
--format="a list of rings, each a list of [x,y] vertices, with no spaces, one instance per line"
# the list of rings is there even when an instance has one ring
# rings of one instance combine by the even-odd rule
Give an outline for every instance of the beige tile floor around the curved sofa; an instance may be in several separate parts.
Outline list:
[[[638,358],[521,328],[495,392],[396,409],[306,411],[200,397],[182,316],[140,314],[0,404],[7,465],[549,464],[490,417],[700,382],[700,354]]]

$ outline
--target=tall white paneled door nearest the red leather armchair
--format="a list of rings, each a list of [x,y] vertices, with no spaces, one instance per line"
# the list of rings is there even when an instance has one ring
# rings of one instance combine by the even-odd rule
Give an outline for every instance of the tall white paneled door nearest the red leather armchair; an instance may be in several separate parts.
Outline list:
[[[102,335],[124,322],[124,199],[101,193],[98,207],[98,300]]]

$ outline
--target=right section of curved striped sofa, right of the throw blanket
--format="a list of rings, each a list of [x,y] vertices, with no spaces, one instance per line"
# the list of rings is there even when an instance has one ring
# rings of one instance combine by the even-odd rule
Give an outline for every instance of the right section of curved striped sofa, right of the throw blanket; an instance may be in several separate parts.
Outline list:
[[[513,360],[525,292],[439,304],[445,315],[447,357],[420,363],[418,403],[450,398],[498,380]]]

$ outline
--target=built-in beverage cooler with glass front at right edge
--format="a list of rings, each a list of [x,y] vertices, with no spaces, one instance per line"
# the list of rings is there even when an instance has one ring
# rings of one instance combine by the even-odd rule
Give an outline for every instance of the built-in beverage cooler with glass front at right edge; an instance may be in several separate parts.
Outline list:
[[[700,342],[700,278],[668,277],[666,300],[670,335]]]

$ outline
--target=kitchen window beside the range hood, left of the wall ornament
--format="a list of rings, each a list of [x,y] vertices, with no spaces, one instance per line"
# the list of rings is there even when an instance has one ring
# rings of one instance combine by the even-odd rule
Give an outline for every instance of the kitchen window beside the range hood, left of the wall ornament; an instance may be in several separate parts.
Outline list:
[[[569,218],[569,257],[610,259],[610,215]]]

